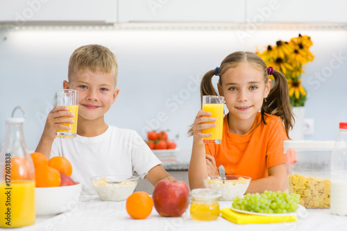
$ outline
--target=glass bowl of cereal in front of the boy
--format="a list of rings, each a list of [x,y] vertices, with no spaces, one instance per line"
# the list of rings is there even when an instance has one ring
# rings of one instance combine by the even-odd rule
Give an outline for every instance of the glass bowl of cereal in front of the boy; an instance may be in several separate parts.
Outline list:
[[[139,176],[94,176],[90,180],[101,200],[121,201],[133,194]]]

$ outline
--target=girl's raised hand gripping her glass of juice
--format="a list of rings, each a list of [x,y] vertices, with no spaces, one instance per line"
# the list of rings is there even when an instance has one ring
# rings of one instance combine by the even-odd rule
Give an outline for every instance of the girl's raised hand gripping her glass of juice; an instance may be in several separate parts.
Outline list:
[[[214,128],[216,126],[216,123],[213,122],[217,121],[217,119],[214,117],[210,117],[211,115],[211,112],[206,112],[203,110],[198,112],[193,124],[194,139],[201,140],[202,138],[212,136],[212,133],[201,132],[201,130],[203,129]]]

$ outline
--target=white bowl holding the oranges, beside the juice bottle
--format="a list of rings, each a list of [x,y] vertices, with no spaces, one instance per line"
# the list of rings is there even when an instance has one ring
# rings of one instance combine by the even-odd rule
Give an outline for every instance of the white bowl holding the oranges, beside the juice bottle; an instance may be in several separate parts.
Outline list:
[[[36,187],[36,216],[48,216],[67,212],[78,207],[81,183],[60,187]]]

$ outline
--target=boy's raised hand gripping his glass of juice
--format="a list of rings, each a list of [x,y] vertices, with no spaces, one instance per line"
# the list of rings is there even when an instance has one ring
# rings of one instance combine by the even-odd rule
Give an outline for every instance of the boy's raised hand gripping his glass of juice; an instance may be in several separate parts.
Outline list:
[[[74,113],[69,112],[69,108],[58,105],[49,112],[46,125],[44,126],[44,131],[42,133],[42,138],[44,139],[56,139],[57,130],[71,130],[69,126],[60,124],[60,123],[74,123],[70,118],[62,117],[74,117]]]

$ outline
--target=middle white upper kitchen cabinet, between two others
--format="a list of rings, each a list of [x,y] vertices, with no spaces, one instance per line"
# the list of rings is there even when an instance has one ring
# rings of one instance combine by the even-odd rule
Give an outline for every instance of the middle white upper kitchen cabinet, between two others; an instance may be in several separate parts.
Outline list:
[[[118,0],[119,22],[244,22],[244,0]]]

